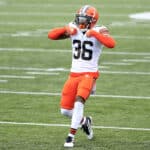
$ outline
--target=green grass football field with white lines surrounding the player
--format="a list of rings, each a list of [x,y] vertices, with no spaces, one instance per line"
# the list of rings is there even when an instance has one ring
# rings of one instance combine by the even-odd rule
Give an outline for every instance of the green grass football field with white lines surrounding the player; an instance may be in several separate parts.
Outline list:
[[[0,0],[0,150],[65,149],[70,120],[59,101],[71,44],[47,33],[85,4],[98,9],[117,46],[104,48],[96,95],[85,105],[95,137],[79,129],[73,149],[150,149],[150,21],[129,18],[150,11],[149,0]]]

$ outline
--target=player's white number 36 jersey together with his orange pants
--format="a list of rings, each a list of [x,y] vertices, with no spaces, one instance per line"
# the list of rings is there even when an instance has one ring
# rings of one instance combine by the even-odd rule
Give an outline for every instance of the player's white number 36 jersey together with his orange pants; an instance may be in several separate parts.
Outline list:
[[[77,29],[77,34],[71,36],[72,41],[72,65],[71,73],[66,81],[61,98],[61,107],[72,109],[76,95],[85,100],[90,95],[93,85],[99,76],[98,62],[103,45],[94,37],[87,37],[77,26],[70,23],[69,26]],[[94,27],[99,31],[104,27]]]

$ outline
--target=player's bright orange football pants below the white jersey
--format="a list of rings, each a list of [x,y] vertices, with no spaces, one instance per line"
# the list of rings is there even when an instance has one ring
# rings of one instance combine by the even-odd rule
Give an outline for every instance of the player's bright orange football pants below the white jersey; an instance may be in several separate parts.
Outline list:
[[[89,97],[99,73],[71,73],[62,89],[61,108],[73,109],[76,96]]]

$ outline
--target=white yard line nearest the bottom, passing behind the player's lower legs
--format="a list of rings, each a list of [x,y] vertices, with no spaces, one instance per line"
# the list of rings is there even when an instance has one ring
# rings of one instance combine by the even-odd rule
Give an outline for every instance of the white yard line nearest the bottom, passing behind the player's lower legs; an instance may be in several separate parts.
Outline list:
[[[0,121],[0,124],[26,125],[26,126],[46,126],[46,127],[70,127],[69,124],[51,124],[51,123],[33,123],[33,122]],[[93,126],[93,128],[95,128],[95,129],[112,129],[112,130],[150,131],[150,128],[111,127],[111,126]]]

